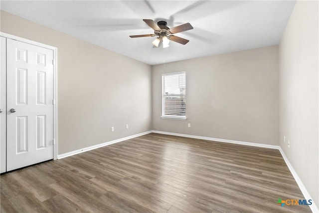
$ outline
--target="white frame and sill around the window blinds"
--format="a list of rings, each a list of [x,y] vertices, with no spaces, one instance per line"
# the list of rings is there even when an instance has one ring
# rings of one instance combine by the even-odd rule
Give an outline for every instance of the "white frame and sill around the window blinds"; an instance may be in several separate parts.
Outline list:
[[[178,75],[178,74],[184,74],[185,75],[185,115],[164,115],[164,98],[165,98],[165,76],[169,75]],[[171,72],[171,73],[164,73],[161,75],[161,116],[162,119],[171,119],[171,120],[187,120],[186,116],[186,72]]]

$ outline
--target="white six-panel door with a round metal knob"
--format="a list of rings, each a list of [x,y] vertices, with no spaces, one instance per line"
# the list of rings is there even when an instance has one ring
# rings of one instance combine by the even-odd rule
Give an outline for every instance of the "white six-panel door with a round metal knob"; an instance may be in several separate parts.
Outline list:
[[[53,159],[53,50],[7,39],[6,171]]]

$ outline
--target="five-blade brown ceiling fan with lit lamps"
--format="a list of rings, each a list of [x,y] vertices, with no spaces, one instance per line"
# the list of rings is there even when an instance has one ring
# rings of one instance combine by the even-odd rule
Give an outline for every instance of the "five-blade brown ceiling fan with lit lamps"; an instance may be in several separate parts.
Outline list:
[[[185,38],[178,37],[176,35],[173,35],[177,32],[183,32],[186,30],[193,29],[192,25],[190,23],[184,23],[179,26],[175,26],[172,28],[167,27],[166,21],[159,21],[156,23],[152,19],[143,19],[145,23],[147,23],[152,29],[154,29],[154,34],[144,34],[144,35],[130,35],[131,38],[138,38],[138,37],[150,37],[150,36],[159,36],[157,37],[152,43],[154,46],[159,47],[160,42],[163,44],[163,48],[168,47],[169,40],[175,41],[177,43],[186,44],[189,40]]]

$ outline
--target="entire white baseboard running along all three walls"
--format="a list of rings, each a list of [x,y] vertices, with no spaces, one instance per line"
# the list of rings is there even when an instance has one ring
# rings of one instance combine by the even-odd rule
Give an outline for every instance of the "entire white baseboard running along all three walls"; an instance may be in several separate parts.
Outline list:
[[[240,145],[246,145],[246,146],[263,147],[263,148],[269,148],[269,149],[278,149],[280,151],[281,155],[283,156],[283,158],[284,158],[284,160],[286,162],[286,165],[288,166],[291,174],[295,178],[295,180],[296,180],[301,192],[303,193],[305,199],[306,200],[313,200],[312,197],[310,196],[309,192],[307,191],[305,185],[303,184],[303,182],[300,180],[299,176],[297,175],[295,169],[290,164],[290,162],[289,162],[288,158],[286,157],[286,155],[285,155],[284,151],[282,150],[282,148],[280,146],[275,146],[275,145],[258,144],[258,143],[244,142],[244,141],[234,141],[234,140],[226,140],[226,139],[220,139],[220,138],[210,138],[210,137],[203,137],[203,136],[196,136],[196,135],[186,135],[186,134],[179,134],[179,133],[162,132],[162,131],[152,130],[152,131],[147,131],[147,132],[139,133],[139,134],[136,134],[136,135],[120,138],[120,139],[117,139],[117,140],[105,142],[105,143],[102,143],[102,144],[97,144],[97,145],[94,145],[94,146],[86,147],[86,148],[83,148],[83,149],[75,150],[75,151],[72,151],[72,152],[64,153],[64,154],[58,155],[58,159],[66,158],[66,157],[69,157],[69,156],[72,156],[72,155],[76,155],[76,154],[79,154],[79,153],[87,152],[87,151],[90,151],[90,150],[93,150],[93,149],[97,149],[97,148],[100,148],[100,147],[108,146],[108,145],[115,144],[115,143],[118,143],[118,142],[121,142],[121,141],[125,141],[125,140],[136,138],[136,137],[139,137],[139,136],[142,136],[142,135],[146,135],[146,134],[149,134],[149,133],[159,133],[159,134],[163,134],[163,135],[174,135],[174,136],[202,139],[202,140],[208,140],[208,141],[217,141],[217,142],[224,142],[224,143],[231,143],[231,144],[240,144]],[[313,213],[319,213],[319,209],[318,209],[317,205],[314,202],[309,207],[310,207],[310,209],[312,210]]]

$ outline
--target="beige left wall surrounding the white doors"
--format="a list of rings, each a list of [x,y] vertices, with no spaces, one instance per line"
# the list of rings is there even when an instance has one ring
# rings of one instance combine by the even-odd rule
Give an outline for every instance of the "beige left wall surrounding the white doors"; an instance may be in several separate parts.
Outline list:
[[[59,154],[151,130],[150,65],[7,12],[0,15],[1,32],[58,48]]]

